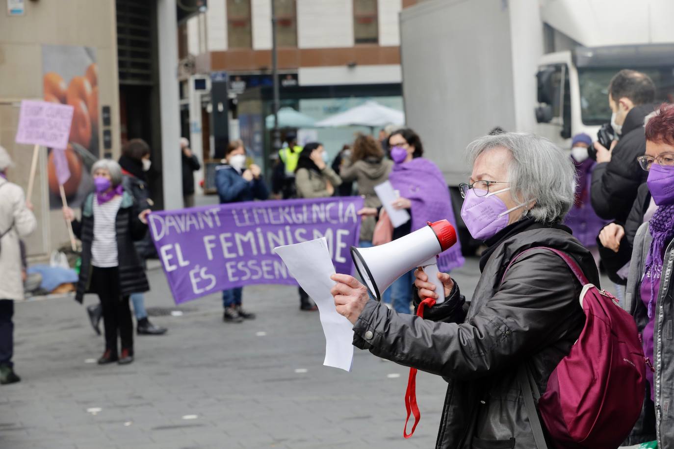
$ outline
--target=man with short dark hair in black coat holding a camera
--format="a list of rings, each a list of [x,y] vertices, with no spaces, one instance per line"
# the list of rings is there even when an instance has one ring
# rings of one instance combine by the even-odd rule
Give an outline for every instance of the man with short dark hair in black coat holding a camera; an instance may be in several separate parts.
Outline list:
[[[646,152],[644,118],[653,112],[655,85],[645,73],[621,70],[609,83],[611,126],[619,137],[611,148],[594,143],[596,166],[592,172],[590,201],[599,217],[625,223],[644,171],[637,156]]]

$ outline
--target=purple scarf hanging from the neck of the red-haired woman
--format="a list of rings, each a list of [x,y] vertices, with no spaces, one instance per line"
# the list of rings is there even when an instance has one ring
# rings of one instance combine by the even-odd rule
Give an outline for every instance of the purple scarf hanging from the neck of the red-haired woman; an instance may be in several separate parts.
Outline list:
[[[644,273],[650,272],[650,299],[648,300],[648,318],[652,317],[655,279],[661,277],[663,271],[663,259],[665,258],[665,245],[674,236],[674,204],[662,205],[655,211],[648,221],[648,230],[653,237],[650,242],[650,250],[646,256],[646,268]]]

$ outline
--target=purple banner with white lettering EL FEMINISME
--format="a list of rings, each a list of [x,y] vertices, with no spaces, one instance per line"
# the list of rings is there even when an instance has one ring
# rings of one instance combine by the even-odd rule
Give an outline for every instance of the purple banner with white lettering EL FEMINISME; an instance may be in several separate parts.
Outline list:
[[[276,246],[325,237],[337,273],[352,273],[361,197],[251,201],[158,211],[150,236],[176,304],[253,284],[297,285]]]

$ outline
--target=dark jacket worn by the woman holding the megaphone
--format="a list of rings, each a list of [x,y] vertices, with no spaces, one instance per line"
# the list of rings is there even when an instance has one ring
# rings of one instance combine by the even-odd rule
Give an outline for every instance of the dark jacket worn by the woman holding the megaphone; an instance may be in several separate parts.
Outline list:
[[[566,252],[595,285],[590,252],[570,232],[541,225],[522,227],[492,248],[465,307],[458,286],[425,319],[399,315],[370,301],[354,326],[354,345],[443,376],[448,382],[437,448],[534,448],[517,371],[527,364],[541,392],[584,326],[581,286],[564,261],[533,250]]]

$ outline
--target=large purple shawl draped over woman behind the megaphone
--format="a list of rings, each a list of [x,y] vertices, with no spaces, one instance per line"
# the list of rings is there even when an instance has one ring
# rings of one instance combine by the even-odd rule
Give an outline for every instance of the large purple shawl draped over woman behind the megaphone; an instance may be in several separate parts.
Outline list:
[[[425,158],[415,158],[396,164],[389,176],[400,197],[412,203],[412,232],[427,225],[428,221],[447,219],[456,228],[450,191],[439,168]],[[452,248],[442,252],[437,261],[440,271],[461,267],[464,258],[457,241]]]

